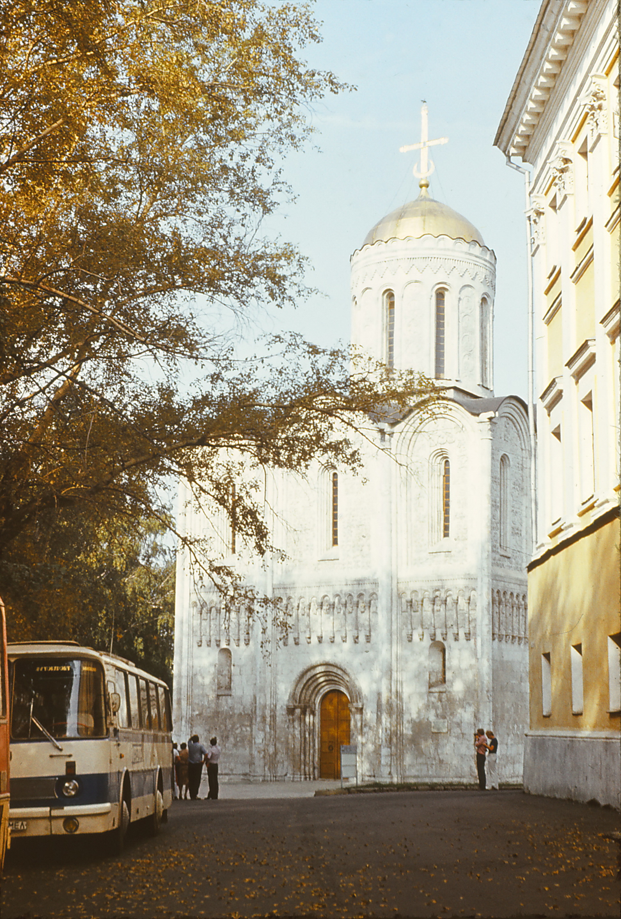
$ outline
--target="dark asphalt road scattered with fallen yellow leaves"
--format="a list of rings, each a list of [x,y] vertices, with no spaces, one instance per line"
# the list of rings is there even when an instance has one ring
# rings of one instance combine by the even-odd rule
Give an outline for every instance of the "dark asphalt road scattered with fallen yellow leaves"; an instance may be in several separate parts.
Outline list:
[[[84,838],[17,841],[1,914],[618,916],[618,824],[502,790],[175,801],[122,857]]]

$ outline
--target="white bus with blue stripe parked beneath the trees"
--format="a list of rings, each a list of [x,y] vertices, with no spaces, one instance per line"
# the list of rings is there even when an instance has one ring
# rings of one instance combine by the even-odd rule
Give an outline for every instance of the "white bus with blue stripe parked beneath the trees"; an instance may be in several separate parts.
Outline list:
[[[159,832],[171,805],[168,686],[74,641],[7,646],[13,838]]]

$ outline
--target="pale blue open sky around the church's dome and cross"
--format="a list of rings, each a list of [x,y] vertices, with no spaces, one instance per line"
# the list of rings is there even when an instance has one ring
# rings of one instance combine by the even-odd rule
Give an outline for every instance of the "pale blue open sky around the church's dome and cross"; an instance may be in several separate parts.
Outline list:
[[[319,150],[288,157],[297,193],[265,224],[309,256],[307,282],[323,296],[278,312],[329,346],[349,340],[349,257],[390,210],[418,195],[421,100],[429,107],[430,192],[469,219],[498,259],[494,322],[497,394],[526,394],[524,179],[492,146],[539,0],[318,0],[323,42],[306,50],[356,92],[329,96],[310,118]],[[265,320],[265,317],[264,317]],[[262,323],[269,326],[269,322]]]

